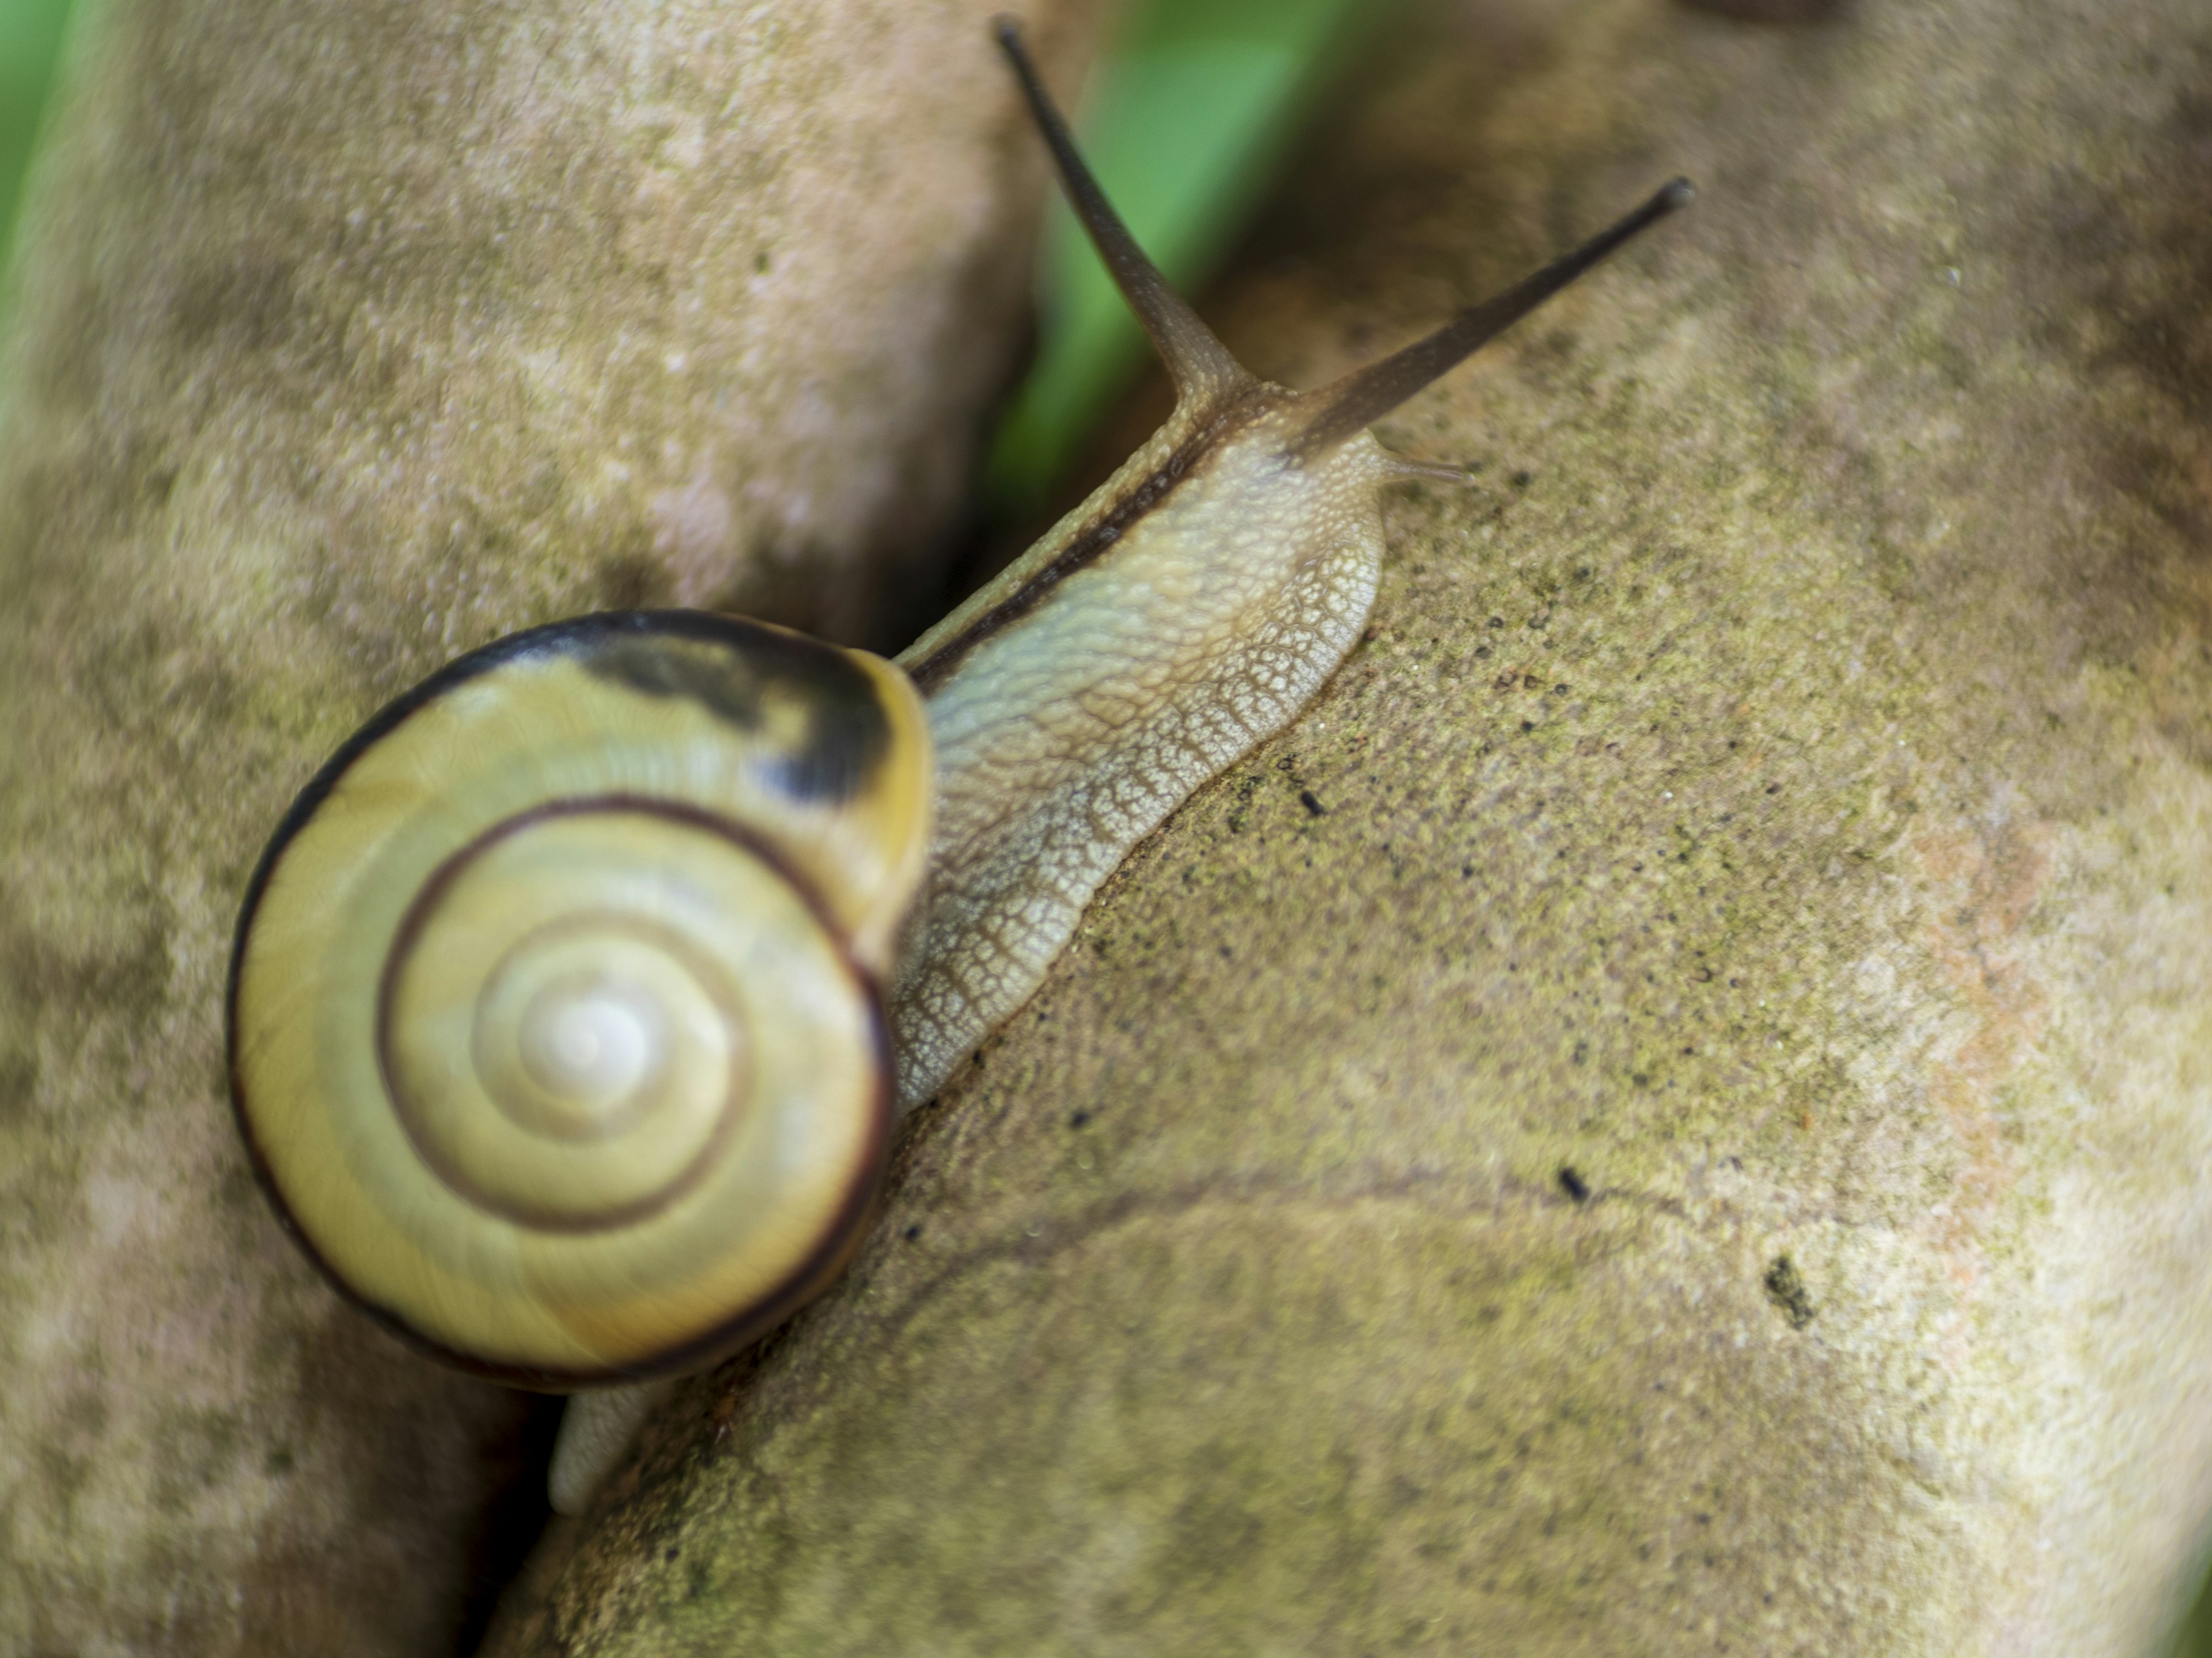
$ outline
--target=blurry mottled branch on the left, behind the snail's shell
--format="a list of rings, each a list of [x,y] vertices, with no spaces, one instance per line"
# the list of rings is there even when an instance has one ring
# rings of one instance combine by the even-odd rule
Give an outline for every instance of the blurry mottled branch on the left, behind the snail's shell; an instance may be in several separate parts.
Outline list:
[[[343,1309],[254,1192],[246,873],[511,628],[911,628],[1042,190],[989,11],[97,9],[0,436],[0,1649],[460,1638],[542,1417]],[[1091,7],[1033,11],[1082,49]]]

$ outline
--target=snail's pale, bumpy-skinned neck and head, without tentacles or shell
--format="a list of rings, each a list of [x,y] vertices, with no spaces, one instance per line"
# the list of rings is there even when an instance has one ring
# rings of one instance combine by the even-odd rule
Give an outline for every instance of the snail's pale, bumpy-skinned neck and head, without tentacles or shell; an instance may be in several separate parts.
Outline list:
[[[1365,433],[1292,460],[1298,424],[1281,387],[1186,396],[898,659],[940,756],[929,895],[891,997],[902,1105],[1037,988],[1128,849],[1287,725],[1358,641],[1383,564],[1378,491],[1407,466]],[[991,626],[1170,466],[1172,489]]]

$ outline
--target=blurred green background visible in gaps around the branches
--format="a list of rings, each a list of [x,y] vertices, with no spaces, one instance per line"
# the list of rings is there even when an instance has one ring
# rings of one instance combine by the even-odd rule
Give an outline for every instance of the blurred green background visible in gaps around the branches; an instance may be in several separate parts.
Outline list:
[[[1378,9],[1374,0],[1130,7],[1117,51],[1071,102],[1099,181],[1179,287],[1201,283],[1234,248],[1321,91],[1318,66],[1340,62]],[[0,270],[9,272],[0,305],[13,294],[24,168],[69,13],[69,0],[0,0]],[[991,511],[1009,517],[1051,493],[1146,356],[1144,334],[1062,206],[1046,230],[1037,305],[1037,356],[984,475]],[[2199,1596],[2172,1654],[2212,1658],[2212,1596]]]

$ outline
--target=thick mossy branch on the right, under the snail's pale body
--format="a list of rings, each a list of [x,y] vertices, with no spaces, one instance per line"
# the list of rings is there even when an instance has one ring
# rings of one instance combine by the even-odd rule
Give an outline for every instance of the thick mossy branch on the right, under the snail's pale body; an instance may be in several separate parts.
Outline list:
[[[1429,15],[1214,314],[1365,646],[502,1654],[2141,1654],[2212,1497],[2212,20]]]

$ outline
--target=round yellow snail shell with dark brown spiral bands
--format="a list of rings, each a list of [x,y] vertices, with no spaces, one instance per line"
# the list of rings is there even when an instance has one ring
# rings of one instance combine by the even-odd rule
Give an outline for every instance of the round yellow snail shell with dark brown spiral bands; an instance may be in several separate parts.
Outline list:
[[[905,674],[779,628],[613,612],[451,663],[248,891],[232,1096],[281,1211],[509,1382],[672,1373],[785,1318],[874,1198],[929,794]]]

